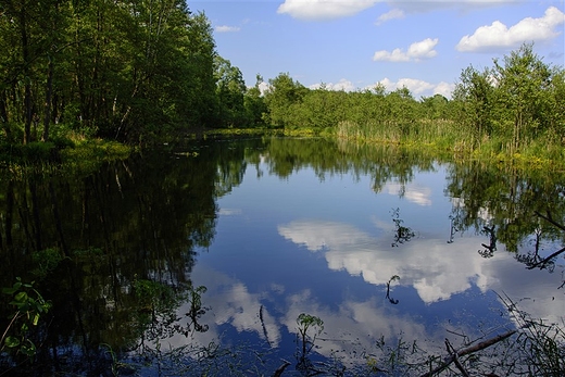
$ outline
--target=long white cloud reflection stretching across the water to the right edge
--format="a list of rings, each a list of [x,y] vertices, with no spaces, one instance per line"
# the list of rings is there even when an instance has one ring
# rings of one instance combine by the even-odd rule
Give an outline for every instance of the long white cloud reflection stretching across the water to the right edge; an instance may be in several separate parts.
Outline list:
[[[389,230],[388,225],[374,224]],[[296,221],[280,225],[278,231],[312,252],[323,252],[330,269],[362,276],[369,284],[384,286],[399,275],[400,285],[413,287],[426,304],[449,300],[475,285],[481,292],[493,290],[516,300],[537,298],[520,303],[536,318],[554,322],[565,312],[563,298],[556,298],[558,293],[545,293],[555,289],[558,276],[527,271],[504,250],[491,259],[481,257],[477,250],[484,239],[479,236],[467,235],[448,243],[422,235],[417,241],[393,249],[389,231],[375,237],[343,223]]]

